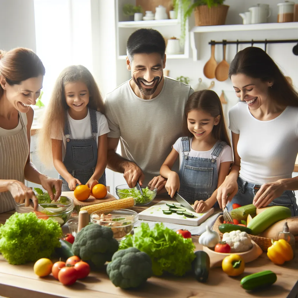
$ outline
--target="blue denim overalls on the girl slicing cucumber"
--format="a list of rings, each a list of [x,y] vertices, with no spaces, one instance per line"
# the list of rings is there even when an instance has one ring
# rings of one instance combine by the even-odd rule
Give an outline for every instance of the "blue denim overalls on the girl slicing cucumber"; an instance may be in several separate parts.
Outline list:
[[[189,156],[190,141],[187,136],[182,137],[181,141],[184,158],[179,170],[179,195],[190,204],[196,200],[206,201],[217,189],[217,157],[227,144],[216,142],[211,158],[201,158]],[[218,203],[215,203],[214,207],[219,207]]]

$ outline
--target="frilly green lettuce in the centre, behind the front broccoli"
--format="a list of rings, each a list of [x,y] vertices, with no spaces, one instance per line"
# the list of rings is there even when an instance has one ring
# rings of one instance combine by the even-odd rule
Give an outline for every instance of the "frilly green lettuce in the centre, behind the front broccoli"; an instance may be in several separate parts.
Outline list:
[[[152,230],[148,224],[142,223],[134,229],[134,235],[120,242],[119,249],[128,247],[135,247],[151,257],[154,275],[169,272],[182,276],[191,270],[195,259],[195,246],[191,238],[183,238],[162,223],[155,224]]]

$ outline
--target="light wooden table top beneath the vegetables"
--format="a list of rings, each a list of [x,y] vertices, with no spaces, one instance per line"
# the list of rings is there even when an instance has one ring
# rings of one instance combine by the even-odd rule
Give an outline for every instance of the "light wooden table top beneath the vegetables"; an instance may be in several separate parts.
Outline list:
[[[140,212],[146,207],[164,199],[156,197],[145,207],[135,207]],[[13,214],[12,211],[0,214],[0,223]],[[196,249],[201,250],[198,237],[193,237]],[[33,272],[33,264],[13,266],[0,256],[0,295],[9,298],[57,298],[57,297],[103,297],[103,298],[213,298],[223,297],[288,297],[297,298],[298,292],[298,249],[294,260],[284,266],[271,263],[266,253],[257,260],[247,263],[243,274],[239,277],[228,277],[221,268],[212,268],[207,283],[199,283],[189,274],[185,277],[151,277],[139,289],[122,290],[116,288],[108,279],[105,268],[100,272],[91,272],[84,281],[77,281],[72,286],[64,286],[52,276],[37,277]],[[240,280],[248,274],[263,270],[272,270],[277,274],[277,282],[270,288],[249,293],[240,287]]]

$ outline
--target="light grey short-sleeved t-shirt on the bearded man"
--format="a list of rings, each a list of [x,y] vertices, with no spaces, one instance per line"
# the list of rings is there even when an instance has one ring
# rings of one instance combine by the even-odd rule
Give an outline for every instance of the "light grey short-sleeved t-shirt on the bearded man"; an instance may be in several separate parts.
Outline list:
[[[129,81],[105,97],[108,137],[120,138],[121,155],[135,162],[144,172],[144,185],[159,175],[160,167],[183,136],[183,114],[193,89],[164,77],[162,91],[150,100],[134,94]],[[178,172],[179,163],[173,169]]]

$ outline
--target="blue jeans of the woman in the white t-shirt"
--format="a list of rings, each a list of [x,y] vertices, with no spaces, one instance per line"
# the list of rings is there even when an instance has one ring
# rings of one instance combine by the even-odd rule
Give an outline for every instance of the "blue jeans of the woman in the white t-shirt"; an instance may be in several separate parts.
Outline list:
[[[232,204],[234,203],[240,204],[241,206],[252,204],[254,196],[261,187],[261,185],[247,182],[240,177],[238,177],[237,183],[238,192],[232,201],[228,203],[228,211],[233,209]],[[270,204],[268,204],[268,207],[269,206],[285,206],[290,208],[292,216],[298,215],[296,198],[291,190],[285,190],[280,197],[274,199]]]

